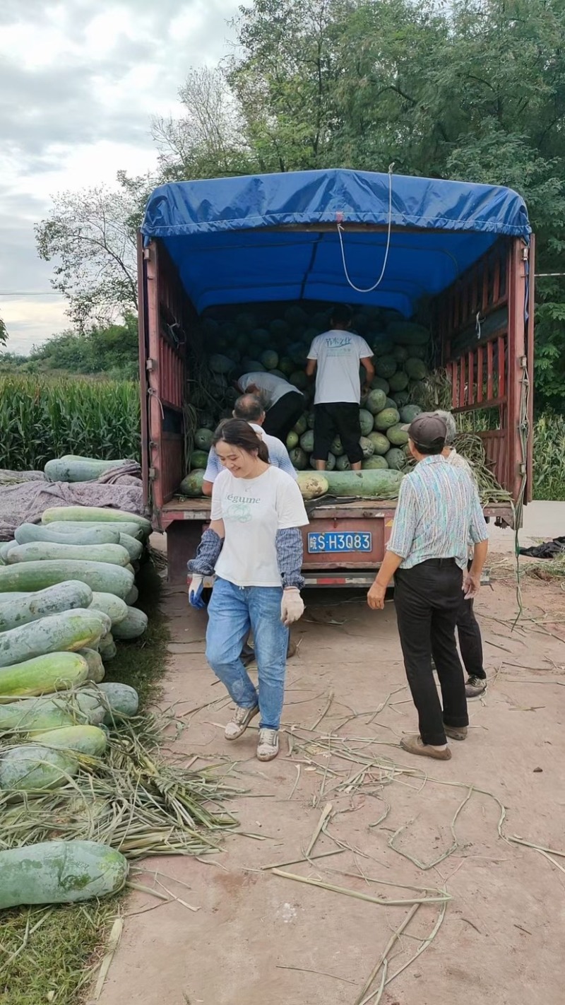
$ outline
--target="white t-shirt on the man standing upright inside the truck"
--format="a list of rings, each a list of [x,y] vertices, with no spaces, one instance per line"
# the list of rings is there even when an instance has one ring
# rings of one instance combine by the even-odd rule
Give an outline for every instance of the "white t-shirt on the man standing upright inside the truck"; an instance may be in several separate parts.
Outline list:
[[[361,399],[359,360],[370,359],[369,349],[360,335],[332,331],[317,335],[308,353],[317,361],[315,405],[333,401],[355,402]]]

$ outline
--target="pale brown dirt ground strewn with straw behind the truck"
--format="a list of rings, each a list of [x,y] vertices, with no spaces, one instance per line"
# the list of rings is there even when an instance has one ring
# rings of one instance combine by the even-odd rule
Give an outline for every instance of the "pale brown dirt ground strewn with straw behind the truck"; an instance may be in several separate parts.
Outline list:
[[[306,599],[281,754],[260,765],[255,730],[236,744],[223,738],[230,706],[205,662],[206,615],[188,610],[183,591],[168,593],[165,701],[187,726],[172,750],[179,763],[234,762],[231,782],[246,790],[231,807],[241,829],[220,855],[147,863],[143,881],[159,868],[199,910],[135,892],[101,1005],[562,1002],[565,858],[510,839],[565,851],[563,590],[525,580],[512,630],[512,581],[483,589],[489,689],[470,702],[469,738],[452,743],[448,763],[398,746],[415,717],[393,605],[374,613],[358,595]],[[298,882],[277,865],[381,902]]]

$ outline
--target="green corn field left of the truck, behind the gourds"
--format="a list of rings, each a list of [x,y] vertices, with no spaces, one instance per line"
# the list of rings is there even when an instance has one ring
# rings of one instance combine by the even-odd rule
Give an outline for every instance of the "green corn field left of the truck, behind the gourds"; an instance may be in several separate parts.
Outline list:
[[[0,468],[41,470],[65,453],[139,460],[138,385],[0,375]]]

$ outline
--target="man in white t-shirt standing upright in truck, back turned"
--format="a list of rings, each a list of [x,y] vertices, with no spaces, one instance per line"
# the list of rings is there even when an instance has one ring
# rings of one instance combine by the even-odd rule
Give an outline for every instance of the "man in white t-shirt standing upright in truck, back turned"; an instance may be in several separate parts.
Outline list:
[[[360,335],[351,331],[351,309],[338,304],[331,313],[330,331],[318,335],[310,346],[306,375],[316,374],[314,398],[314,449],[318,471],[324,471],[331,442],[339,436],[351,469],[359,471],[363,452],[359,446],[359,363],[366,371],[365,384],[374,377],[372,352]]]

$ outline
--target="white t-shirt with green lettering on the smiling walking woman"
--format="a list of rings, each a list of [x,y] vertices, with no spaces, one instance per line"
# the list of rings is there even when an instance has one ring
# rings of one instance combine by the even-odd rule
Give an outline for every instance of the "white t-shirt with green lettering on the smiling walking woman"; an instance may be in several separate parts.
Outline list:
[[[226,531],[216,575],[235,586],[281,586],[277,531],[308,524],[296,481],[272,465],[257,478],[222,471],[212,491],[212,520],[223,520]]]

